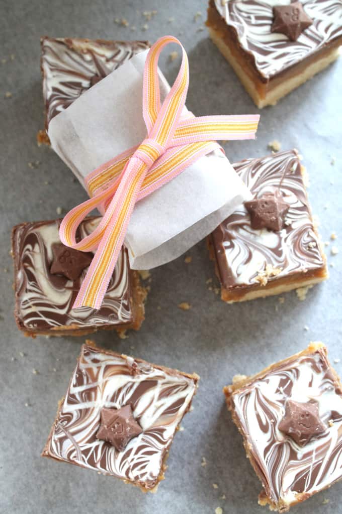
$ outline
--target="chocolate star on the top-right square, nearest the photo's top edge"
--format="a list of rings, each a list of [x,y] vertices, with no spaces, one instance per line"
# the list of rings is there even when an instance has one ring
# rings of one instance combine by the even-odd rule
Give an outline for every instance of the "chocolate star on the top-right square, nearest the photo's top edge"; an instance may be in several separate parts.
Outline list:
[[[303,30],[310,25],[312,25],[312,20],[300,2],[273,7],[271,32],[281,32],[291,41],[296,41]]]

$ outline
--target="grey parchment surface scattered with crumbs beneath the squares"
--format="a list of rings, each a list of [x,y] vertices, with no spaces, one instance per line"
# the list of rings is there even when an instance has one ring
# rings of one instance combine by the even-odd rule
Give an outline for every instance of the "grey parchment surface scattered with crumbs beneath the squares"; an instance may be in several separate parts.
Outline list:
[[[209,40],[204,28],[206,7],[199,0],[0,2],[2,514],[213,514],[216,507],[222,507],[224,514],[267,512],[257,505],[260,483],[226,410],[222,387],[234,374],[260,371],[301,350],[310,340],[328,345],[331,360],[341,359],[335,368],[342,373],[342,60],[278,105],[258,111]],[[146,21],[142,13],[152,10],[157,13]],[[126,19],[129,26],[118,25],[115,18]],[[114,332],[91,336],[106,348],[196,371],[201,377],[194,410],[183,421],[184,431],[175,436],[166,480],[156,494],[144,494],[114,478],[40,457],[57,401],[66,392],[85,339],[29,339],[19,333],[13,318],[12,226],[55,218],[57,207],[69,210],[86,199],[83,188],[57,155],[36,144],[36,132],[43,128],[39,38],[45,34],[151,42],[165,34],[177,36],[189,56],[187,106],[194,114],[261,114],[255,141],[224,144],[231,162],[266,155],[273,139],[278,139],[283,149],[297,148],[310,175],[311,206],[319,216],[323,241],[330,241],[333,231],[339,236],[326,248],[330,279],[311,289],[304,302],[291,292],[283,295],[283,304],[279,297],[224,304],[209,290],[217,282],[202,242],[188,252],[190,264],[183,256],[152,271],[146,320],[139,332],[130,332],[125,340]],[[160,60],[170,83],[180,63],[180,56],[174,61],[169,58],[172,50],[178,48],[170,46]],[[6,97],[7,91],[11,97]],[[36,161],[39,164],[29,164]],[[332,246],[340,248],[339,254],[330,254]],[[206,284],[210,278],[213,284]],[[189,302],[191,309],[180,310],[180,302]],[[33,374],[33,369],[38,374]],[[201,465],[202,457],[206,466]],[[342,483],[336,484],[291,511],[342,512],[341,493]],[[225,500],[220,499],[223,494]]]

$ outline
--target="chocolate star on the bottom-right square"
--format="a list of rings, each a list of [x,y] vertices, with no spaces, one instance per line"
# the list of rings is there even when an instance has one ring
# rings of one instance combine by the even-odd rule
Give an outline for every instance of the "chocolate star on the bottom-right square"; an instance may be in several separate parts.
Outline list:
[[[279,430],[286,433],[299,445],[306,445],[312,437],[325,432],[326,427],[319,418],[318,402],[310,400],[299,403],[287,400],[285,416],[279,423]]]

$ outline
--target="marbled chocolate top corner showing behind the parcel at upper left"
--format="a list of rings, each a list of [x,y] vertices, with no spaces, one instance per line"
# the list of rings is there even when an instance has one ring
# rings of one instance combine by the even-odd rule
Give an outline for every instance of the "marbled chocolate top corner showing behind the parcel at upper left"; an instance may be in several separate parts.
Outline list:
[[[46,128],[54,116],[89,89],[94,77],[106,77],[134,54],[147,48],[149,45],[146,41],[43,38]]]

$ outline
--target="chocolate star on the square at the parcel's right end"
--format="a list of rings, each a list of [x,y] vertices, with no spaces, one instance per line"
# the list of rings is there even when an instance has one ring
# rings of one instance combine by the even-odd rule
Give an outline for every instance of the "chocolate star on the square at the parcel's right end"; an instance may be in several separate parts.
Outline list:
[[[254,200],[245,201],[245,207],[251,215],[252,228],[268,228],[274,231],[283,228],[285,214],[290,208],[278,189]]]

